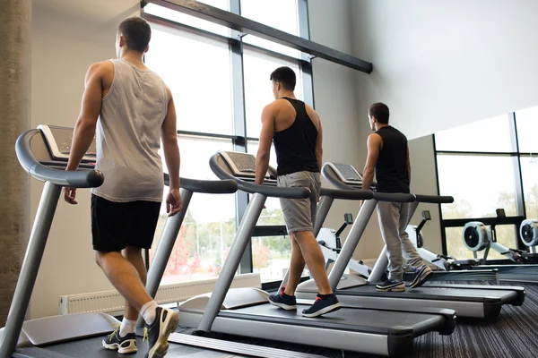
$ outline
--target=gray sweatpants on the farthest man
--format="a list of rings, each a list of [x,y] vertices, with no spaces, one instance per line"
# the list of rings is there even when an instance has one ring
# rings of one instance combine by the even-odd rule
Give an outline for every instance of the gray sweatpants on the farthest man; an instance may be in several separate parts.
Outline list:
[[[404,277],[404,257],[409,265],[418,268],[423,264],[421,256],[415,249],[405,227],[410,220],[409,203],[379,201],[377,217],[383,241],[386,244],[388,259],[388,278],[401,280]]]

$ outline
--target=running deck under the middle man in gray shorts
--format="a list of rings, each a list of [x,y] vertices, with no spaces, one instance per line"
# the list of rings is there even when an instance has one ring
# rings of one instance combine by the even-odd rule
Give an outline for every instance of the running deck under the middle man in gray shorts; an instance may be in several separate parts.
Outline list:
[[[301,311],[306,304],[298,304],[297,311],[285,311],[272,304],[258,304],[235,310],[221,311],[219,317],[257,321],[271,321],[285,325],[345,330],[379,335],[405,335],[414,337],[438,331],[447,319],[441,314],[410,313],[402,311],[378,311],[357,308],[341,308],[318,318],[307,318]]]

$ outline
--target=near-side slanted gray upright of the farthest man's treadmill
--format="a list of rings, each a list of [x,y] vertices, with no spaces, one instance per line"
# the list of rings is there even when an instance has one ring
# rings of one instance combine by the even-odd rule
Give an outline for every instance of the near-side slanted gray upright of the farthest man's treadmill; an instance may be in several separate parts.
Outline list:
[[[364,201],[364,204],[362,204],[359,211],[359,216],[353,223],[353,226],[351,226],[350,234],[348,234],[347,238],[345,239],[342,246],[342,251],[340,251],[338,254],[336,261],[334,261],[333,269],[329,274],[329,283],[331,284],[331,288],[333,290],[335,290],[336,286],[338,286],[338,283],[342,278],[343,271],[345,271],[345,268],[349,264],[351,257],[353,256],[353,251],[355,251],[355,248],[359,244],[360,237],[362,234],[364,234],[364,230],[368,225],[369,218],[372,216],[376,206],[377,200],[375,199],[366,200]]]

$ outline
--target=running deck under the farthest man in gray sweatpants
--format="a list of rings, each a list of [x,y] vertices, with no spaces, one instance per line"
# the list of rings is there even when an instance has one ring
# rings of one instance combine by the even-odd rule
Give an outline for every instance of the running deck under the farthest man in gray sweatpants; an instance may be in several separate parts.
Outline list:
[[[373,284],[365,286],[349,287],[343,290],[337,290],[336,294],[343,295],[368,295],[377,297],[390,297],[390,298],[416,298],[420,300],[438,300],[438,301],[460,301],[460,302],[475,302],[475,303],[488,303],[498,302],[512,303],[518,298],[516,291],[510,290],[509,287],[506,290],[487,289],[488,286],[483,288],[452,288],[450,286],[422,286],[418,288],[406,287],[405,292],[377,292],[376,286]]]

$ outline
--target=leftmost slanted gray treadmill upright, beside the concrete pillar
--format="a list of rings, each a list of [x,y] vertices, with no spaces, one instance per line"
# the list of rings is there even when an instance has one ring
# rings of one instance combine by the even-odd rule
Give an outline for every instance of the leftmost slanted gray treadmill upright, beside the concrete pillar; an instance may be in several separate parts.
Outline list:
[[[11,357],[21,334],[24,315],[30,304],[31,293],[38,277],[39,265],[47,245],[48,233],[62,187],[53,183],[45,183],[39,208],[30,234],[30,241],[22,261],[21,275],[15,287],[13,301],[7,321],[5,322],[4,337],[0,345],[0,357]]]

